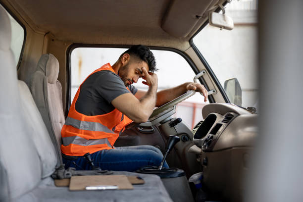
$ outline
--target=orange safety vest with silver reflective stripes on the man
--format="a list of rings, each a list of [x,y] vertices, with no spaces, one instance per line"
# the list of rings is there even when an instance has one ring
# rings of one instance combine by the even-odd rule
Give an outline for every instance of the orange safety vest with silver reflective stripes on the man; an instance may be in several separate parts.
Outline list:
[[[110,64],[107,63],[88,77],[102,70],[114,72]],[[127,124],[132,122],[130,118],[116,108],[109,113],[95,116],[79,113],[75,108],[75,104],[80,94],[81,85],[61,130],[61,152],[66,155],[83,156],[87,152],[94,153],[100,150],[113,149],[113,144],[119,134],[124,131]]]

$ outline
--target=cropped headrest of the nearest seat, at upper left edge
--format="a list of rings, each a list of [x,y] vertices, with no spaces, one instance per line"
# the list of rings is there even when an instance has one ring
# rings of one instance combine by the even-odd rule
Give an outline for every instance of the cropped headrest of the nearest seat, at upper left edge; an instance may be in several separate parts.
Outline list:
[[[6,11],[0,5],[0,50],[9,50],[11,40],[10,21]]]

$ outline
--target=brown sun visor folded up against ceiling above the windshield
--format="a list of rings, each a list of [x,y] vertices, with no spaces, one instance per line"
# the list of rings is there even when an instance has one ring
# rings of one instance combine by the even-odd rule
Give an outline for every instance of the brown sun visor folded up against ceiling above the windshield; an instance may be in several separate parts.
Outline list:
[[[197,24],[202,25],[207,19],[208,8],[217,2],[218,0],[173,0],[161,27],[172,36],[188,37],[197,28]]]

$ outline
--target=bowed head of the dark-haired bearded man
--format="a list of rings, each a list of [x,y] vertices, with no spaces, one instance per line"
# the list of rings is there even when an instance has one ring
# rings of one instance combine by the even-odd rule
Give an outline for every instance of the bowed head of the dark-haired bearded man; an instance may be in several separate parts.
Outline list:
[[[152,51],[143,45],[132,46],[120,55],[119,60],[122,66],[118,71],[118,75],[125,86],[137,83],[140,77],[145,76],[142,72],[142,67],[145,67],[147,71],[157,71]]]

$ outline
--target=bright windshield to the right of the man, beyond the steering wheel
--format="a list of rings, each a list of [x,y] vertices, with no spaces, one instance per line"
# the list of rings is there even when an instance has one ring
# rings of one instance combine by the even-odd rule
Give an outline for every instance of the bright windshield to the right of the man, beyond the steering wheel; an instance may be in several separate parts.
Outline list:
[[[230,102],[257,108],[256,8],[256,0],[234,0],[228,3],[225,14],[233,18],[234,29],[220,30],[208,24],[194,37],[193,42]]]

